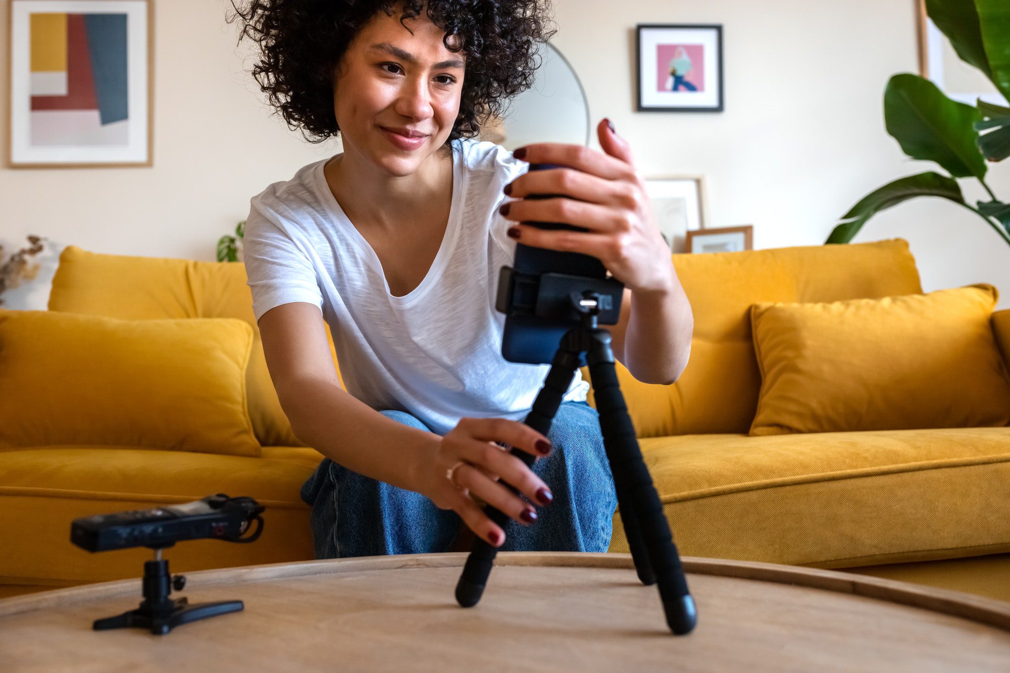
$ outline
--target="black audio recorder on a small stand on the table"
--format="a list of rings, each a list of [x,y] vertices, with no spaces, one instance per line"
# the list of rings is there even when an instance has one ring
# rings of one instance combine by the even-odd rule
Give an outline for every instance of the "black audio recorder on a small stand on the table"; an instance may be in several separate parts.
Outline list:
[[[216,538],[233,543],[254,542],[263,533],[263,518],[260,514],[264,509],[252,498],[229,498],[224,493],[217,493],[181,505],[75,519],[71,540],[89,551],[126,547],[147,547],[155,550],[154,560],[143,563],[143,600],[139,607],[95,619],[93,630],[138,627],[164,636],[183,623],[242,610],[244,603],[241,600],[191,605],[186,596],[170,598],[173,588],[182,591],[186,586],[186,577],[170,576],[169,562],[162,559],[162,550],[174,546],[178,541],[199,538]],[[241,538],[250,520],[258,521],[256,532]]]

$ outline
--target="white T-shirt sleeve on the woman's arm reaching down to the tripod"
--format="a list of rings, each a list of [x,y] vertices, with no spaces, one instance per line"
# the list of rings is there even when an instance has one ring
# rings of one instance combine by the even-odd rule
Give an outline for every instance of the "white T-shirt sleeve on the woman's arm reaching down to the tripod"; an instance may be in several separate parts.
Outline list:
[[[252,203],[242,234],[246,285],[256,320],[275,306],[305,301],[322,310],[315,268],[285,231]]]

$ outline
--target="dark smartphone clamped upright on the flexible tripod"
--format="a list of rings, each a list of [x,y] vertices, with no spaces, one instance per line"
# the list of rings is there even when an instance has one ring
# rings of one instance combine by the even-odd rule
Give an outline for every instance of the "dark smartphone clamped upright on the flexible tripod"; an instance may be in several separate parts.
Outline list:
[[[545,171],[556,168],[568,167],[560,164],[529,165],[530,171]],[[558,196],[570,198],[564,194],[530,194],[524,198],[549,199]],[[524,223],[541,229],[588,230],[584,226],[575,226],[561,222],[525,221]],[[502,297],[505,291],[502,283],[507,282],[507,276],[504,273],[506,269],[506,267],[502,267],[503,273],[499,276],[499,297]],[[537,276],[544,273],[554,273],[599,279],[607,277],[606,267],[603,266],[599,258],[592,255],[564,253],[546,248],[524,246],[521,243],[516,244],[515,261],[512,263],[512,269],[520,274],[534,274]],[[521,292],[522,290],[521,288],[516,288],[515,291]],[[619,309],[620,306],[618,305]],[[499,310],[501,310],[501,307]],[[577,326],[577,323],[570,320],[506,313],[505,328],[502,334],[502,357],[509,362],[529,365],[549,365],[553,362],[554,354],[561,346],[562,336],[574,326]],[[584,352],[580,356],[580,367],[585,366],[586,353]]]

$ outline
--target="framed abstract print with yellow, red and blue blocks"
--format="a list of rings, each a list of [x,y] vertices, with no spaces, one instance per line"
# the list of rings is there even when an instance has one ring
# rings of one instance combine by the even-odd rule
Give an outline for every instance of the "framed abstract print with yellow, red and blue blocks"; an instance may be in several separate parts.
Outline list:
[[[152,166],[153,0],[10,0],[10,168]]]

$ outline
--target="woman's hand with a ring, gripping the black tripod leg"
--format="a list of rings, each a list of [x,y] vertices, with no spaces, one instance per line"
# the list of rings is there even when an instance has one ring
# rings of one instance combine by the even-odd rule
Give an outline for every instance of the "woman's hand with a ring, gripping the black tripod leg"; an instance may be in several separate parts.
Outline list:
[[[545,505],[553,499],[547,485],[510,453],[511,447],[536,458],[550,453],[549,441],[525,423],[507,418],[465,417],[440,439],[434,455],[422,468],[421,493],[440,509],[454,510],[475,535],[493,547],[505,542],[505,532],[484,513],[471,494],[524,525],[536,520],[536,510],[501,481],[515,486],[533,502]],[[464,464],[456,469],[452,483],[446,471],[460,461]]]

